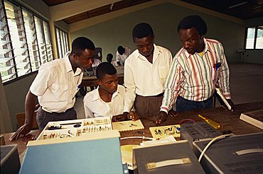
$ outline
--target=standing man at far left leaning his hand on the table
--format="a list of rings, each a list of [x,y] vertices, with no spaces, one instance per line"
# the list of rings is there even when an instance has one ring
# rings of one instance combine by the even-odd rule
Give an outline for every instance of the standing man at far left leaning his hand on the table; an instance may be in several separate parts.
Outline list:
[[[77,37],[72,43],[72,51],[65,54],[63,59],[55,59],[40,67],[26,95],[25,124],[10,140],[31,131],[37,99],[40,104],[36,117],[39,129],[43,129],[48,122],[77,119],[73,108],[75,95],[82,81],[83,69],[92,66],[94,50],[95,45],[91,40]]]

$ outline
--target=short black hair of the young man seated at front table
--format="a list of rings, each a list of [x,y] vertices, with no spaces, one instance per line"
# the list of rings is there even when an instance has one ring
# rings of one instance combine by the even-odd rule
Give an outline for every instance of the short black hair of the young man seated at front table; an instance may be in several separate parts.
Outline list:
[[[102,62],[97,66],[97,70],[96,70],[97,79],[102,80],[106,74],[108,75],[117,74],[117,70],[111,63]]]

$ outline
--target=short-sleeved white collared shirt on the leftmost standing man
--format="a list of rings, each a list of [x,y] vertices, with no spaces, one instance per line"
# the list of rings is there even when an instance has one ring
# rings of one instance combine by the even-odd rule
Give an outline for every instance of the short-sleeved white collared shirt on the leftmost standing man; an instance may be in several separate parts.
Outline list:
[[[77,68],[74,73],[69,54],[65,54],[63,59],[43,64],[31,84],[31,93],[38,96],[39,104],[47,112],[65,112],[75,104],[83,71]]]

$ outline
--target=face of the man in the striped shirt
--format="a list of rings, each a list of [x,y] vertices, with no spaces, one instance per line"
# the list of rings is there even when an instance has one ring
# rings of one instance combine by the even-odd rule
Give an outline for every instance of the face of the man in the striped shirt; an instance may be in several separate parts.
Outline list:
[[[186,49],[189,54],[203,52],[205,49],[203,35],[199,35],[195,28],[179,30],[179,38],[183,48]]]

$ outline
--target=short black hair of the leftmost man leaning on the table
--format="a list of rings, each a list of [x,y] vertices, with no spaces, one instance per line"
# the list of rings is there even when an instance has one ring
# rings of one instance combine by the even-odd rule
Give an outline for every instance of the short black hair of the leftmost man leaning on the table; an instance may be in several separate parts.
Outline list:
[[[70,54],[77,54],[78,56],[82,55],[82,52],[84,52],[86,49],[95,50],[94,43],[87,37],[77,37],[75,40],[73,40],[71,47],[72,50]]]

